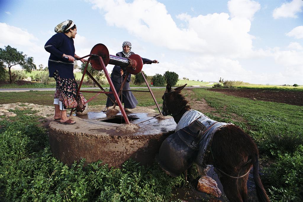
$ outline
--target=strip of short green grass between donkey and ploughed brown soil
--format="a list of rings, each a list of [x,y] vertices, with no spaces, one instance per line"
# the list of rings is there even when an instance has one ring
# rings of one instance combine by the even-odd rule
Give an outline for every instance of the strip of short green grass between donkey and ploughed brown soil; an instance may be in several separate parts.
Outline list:
[[[294,130],[303,133],[303,107],[283,103],[263,102],[225,95],[206,89],[194,89],[195,98],[204,98],[208,105],[224,117],[233,114],[246,120],[247,132],[258,142],[271,129]],[[225,121],[231,121],[226,119]]]

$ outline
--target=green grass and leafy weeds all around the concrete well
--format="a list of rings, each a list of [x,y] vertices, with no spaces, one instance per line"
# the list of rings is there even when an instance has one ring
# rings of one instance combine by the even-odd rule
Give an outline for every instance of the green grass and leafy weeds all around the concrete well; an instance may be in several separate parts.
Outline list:
[[[271,201],[300,201],[303,146],[297,145],[292,152],[289,147],[300,143],[296,138],[303,136],[303,107],[233,97],[205,89],[193,89],[193,92],[186,95],[189,100],[205,99],[213,107],[211,112],[205,113],[207,116],[239,125],[255,140],[260,151],[261,179]],[[164,89],[153,89],[153,93],[161,104]],[[89,98],[92,94],[85,93],[85,96]],[[134,92],[134,95],[138,106],[155,105],[149,93]],[[105,101],[106,96],[99,95],[89,105],[105,105]],[[1,93],[0,104],[16,102],[51,106],[53,92]],[[21,198],[24,201],[35,198],[42,201],[169,201],[171,190],[181,181],[181,178],[168,177],[157,166],[146,169],[133,162],[115,170],[98,167],[98,162],[84,170],[81,163],[68,168],[52,158],[45,129],[37,125],[38,117],[26,116],[35,112],[13,112],[16,117],[0,117],[3,145],[0,148],[0,198],[6,201],[20,201]],[[272,139],[272,134],[276,138]],[[295,138],[291,140],[287,134],[294,134]],[[281,137],[286,137],[283,144],[277,141]]]

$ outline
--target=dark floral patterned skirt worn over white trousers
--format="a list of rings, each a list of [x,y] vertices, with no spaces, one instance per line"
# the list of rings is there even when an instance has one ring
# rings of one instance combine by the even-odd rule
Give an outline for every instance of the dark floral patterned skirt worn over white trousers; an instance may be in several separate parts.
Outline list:
[[[65,109],[76,108],[77,112],[83,112],[85,109],[84,103],[86,102],[86,99],[82,93],[79,93],[77,100],[75,99],[78,90],[78,83],[76,80],[60,78],[57,70],[54,72],[53,77],[56,80],[54,98],[59,98]]]

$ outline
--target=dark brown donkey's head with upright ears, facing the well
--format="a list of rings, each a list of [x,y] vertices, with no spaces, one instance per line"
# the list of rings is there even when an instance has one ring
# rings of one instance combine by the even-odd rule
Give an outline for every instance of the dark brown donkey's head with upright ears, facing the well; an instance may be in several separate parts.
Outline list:
[[[171,89],[171,85],[167,84],[163,99],[162,114],[163,116],[172,115],[173,117],[180,114],[182,110],[190,109],[190,106],[187,105],[188,101],[180,93],[181,90],[186,86],[180,86],[175,89]],[[183,115],[183,114],[182,114]]]

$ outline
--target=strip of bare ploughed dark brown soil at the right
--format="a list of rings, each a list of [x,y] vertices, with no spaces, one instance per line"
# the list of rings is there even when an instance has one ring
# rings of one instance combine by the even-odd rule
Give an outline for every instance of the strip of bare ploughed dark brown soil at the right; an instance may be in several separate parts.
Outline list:
[[[266,102],[277,102],[303,106],[303,91],[233,88],[211,88],[209,90],[224,93],[231,96],[257,99]]]

